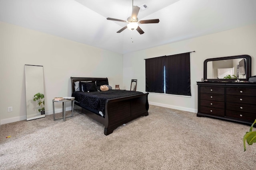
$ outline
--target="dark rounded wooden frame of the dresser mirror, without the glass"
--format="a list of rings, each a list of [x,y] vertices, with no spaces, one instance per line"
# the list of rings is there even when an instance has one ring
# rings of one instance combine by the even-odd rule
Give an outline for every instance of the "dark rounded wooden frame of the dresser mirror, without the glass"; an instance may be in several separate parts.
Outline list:
[[[235,56],[229,56],[229,57],[218,57],[218,58],[211,58],[206,59],[204,61],[204,80],[209,81],[234,81],[235,79],[224,79],[224,78],[207,78],[207,62],[208,61],[220,61],[220,60],[230,60],[230,59],[246,59],[246,78],[239,78],[239,80],[242,81],[248,81],[249,77],[251,77],[252,73],[252,58],[250,55],[235,55]]]

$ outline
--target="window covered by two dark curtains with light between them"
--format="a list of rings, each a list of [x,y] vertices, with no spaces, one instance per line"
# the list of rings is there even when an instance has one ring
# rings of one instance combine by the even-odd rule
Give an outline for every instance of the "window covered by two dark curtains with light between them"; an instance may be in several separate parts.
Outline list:
[[[146,92],[191,96],[190,53],[146,59]]]

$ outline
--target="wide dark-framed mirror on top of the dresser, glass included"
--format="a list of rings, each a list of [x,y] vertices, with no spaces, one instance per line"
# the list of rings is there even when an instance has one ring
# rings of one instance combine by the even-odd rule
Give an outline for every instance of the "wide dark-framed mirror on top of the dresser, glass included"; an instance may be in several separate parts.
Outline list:
[[[236,55],[206,59],[204,61],[204,80],[209,81],[248,81],[251,76],[251,57]]]

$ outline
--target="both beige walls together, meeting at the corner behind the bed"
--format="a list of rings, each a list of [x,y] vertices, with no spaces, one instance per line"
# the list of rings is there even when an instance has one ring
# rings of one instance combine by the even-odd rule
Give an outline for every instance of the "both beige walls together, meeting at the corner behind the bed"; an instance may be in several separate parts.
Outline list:
[[[256,24],[196,37],[128,54],[118,54],[60,37],[0,22],[0,120],[1,124],[26,119],[24,64],[44,66],[46,114],[52,114],[52,98],[70,96],[70,76],[108,77],[111,86],[145,92],[144,59],[191,53],[191,97],[149,95],[153,105],[197,112],[197,85],[205,59],[247,54],[256,75]],[[123,57],[122,57],[123,56]],[[111,69],[110,69],[111,68]],[[7,112],[7,107],[13,107]],[[57,108],[59,111],[60,108]]]

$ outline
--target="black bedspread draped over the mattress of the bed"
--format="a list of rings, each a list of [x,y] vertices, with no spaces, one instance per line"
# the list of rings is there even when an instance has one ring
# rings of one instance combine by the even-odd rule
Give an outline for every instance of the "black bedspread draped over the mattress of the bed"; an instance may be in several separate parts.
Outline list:
[[[121,98],[126,96],[133,96],[136,94],[143,94],[142,92],[128,91],[128,90],[108,90],[100,92],[73,92],[72,97],[75,101],[80,103],[80,106],[90,107],[91,109],[102,111],[105,115],[105,104],[108,99]]]

